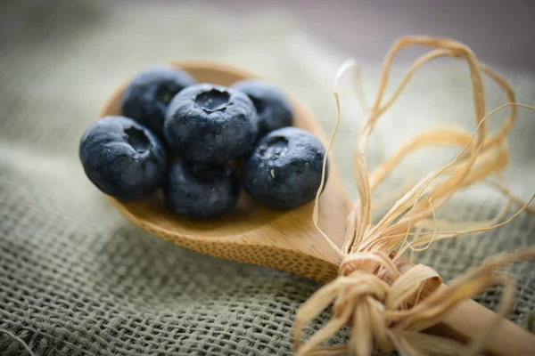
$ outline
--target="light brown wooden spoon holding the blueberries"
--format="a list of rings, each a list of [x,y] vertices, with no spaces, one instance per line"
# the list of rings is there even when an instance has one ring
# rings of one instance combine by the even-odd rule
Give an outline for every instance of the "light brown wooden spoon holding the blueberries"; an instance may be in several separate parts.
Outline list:
[[[232,85],[237,80],[256,77],[218,62],[179,61],[172,65],[185,69],[201,83]],[[119,99],[125,87],[126,84],[122,85],[111,95],[99,117],[120,115]],[[325,134],[315,117],[290,98],[294,125],[315,134],[325,144]],[[342,188],[332,158],[329,166],[329,179],[319,199],[319,222],[333,243],[342,247],[350,200]],[[206,255],[290,271],[321,283],[336,278],[341,263],[340,255],[325,242],[312,223],[313,203],[276,212],[259,206],[242,192],[231,214],[210,222],[193,222],[170,212],[161,193],[141,201],[111,198],[111,202],[128,220],[145,231]],[[399,263],[400,271],[407,271],[411,266],[407,260]],[[477,335],[481,326],[496,322],[495,317],[480,304],[466,301],[435,329],[466,341]],[[487,351],[496,355],[535,355],[535,336],[504,320]]]

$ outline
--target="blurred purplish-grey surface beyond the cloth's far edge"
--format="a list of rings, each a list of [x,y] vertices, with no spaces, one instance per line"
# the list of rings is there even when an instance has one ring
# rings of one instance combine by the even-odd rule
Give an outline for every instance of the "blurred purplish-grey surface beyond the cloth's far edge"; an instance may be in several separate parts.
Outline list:
[[[98,2],[95,1],[94,3]],[[45,20],[53,0],[0,2],[2,39],[24,36],[28,21]],[[63,2],[64,16],[79,1]],[[70,4],[72,3],[72,4]],[[89,4],[91,2],[87,2]],[[236,19],[276,12],[291,17],[310,36],[365,61],[381,61],[401,35],[449,36],[473,48],[490,64],[535,70],[535,3],[531,0],[109,0],[119,9],[151,8],[179,12],[201,6],[206,12],[232,14]],[[95,6],[94,4],[91,6]],[[112,11],[109,9],[109,11]]]

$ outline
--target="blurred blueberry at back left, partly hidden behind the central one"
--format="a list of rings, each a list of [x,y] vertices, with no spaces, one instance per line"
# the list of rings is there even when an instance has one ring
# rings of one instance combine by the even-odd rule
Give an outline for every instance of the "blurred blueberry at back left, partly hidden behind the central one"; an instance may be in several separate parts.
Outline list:
[[[121,114],[145,125],[163,140],[163,120],[169,101],[194,83],[193,77],[181,69],[145,69],[125,89],[121,98]]]

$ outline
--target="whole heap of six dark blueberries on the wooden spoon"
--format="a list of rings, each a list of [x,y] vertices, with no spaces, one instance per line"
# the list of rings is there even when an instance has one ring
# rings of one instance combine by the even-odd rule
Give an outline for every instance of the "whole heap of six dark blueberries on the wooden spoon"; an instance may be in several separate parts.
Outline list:
[[[292,106],[274,85],[197,84],[184,70],[155,67],[129,83],[121,115],[90,125],[79,147],[87,177],[107,195],[141,199],[163,188],[177,214],[200,220],[232,210],[240,181],[274,209],[316,196],[325,149],[290,127]]]

